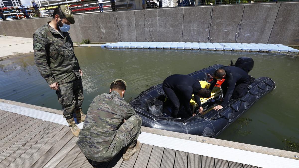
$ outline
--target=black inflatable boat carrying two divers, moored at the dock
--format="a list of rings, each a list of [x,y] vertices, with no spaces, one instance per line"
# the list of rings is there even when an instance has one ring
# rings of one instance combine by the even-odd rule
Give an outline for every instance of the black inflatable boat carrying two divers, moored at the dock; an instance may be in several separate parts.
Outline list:
[[[208,82],[210,75],[213,75],[218,68],[223,66],[216,64],[188,75],[199,81]],[[242,69],[246,71],[246,68]],[[257,100],[271,92],[275,88],[275,83],[269,77],[257,79],[252,77],[247,88],[248,92],[243,97],[229,100],[228,105],[218,111],[213,110],[213,107],[218,105],[217,103],[221,100],[223,94],[219,94],[219,91],[214,91],[215,94],[212,93],[214,97],[202,103],[204,112],[202,114],[197,113],[193,117],[188,117],[187,115],[186,117],[182,115],[180,118],[171,117],[171,103],[167,103],[167,98],[165,98],[165,101],[160,101],[161,99],[159,99],[159,97],[166,97],[162,84],[152,86],[141,92],[138,97],[130,101],[130,105],[141,116],[142,126],[205,137],[216,137],[246,112]],[[191,105],[190,108],[192,108]],[[184,109],[181,108],[180,113],[184,114]]]

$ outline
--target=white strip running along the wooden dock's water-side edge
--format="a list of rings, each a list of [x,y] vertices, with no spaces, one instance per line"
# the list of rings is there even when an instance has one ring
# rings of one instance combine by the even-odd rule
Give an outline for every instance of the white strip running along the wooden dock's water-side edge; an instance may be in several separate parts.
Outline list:
[[[66,120],[62,117],[62,115],[59,114],[53,114],[7,103],[0,103],[0,109],[7,112],[13,112],[28,117],[50,121],[53,123],[58,123],[66,126],[68,125]],[[78,124],[78,126],[80,129],[82,129],[83,123]],[[189,152],[197,155],[204,155],[208,157],[238,162],[242,164],[249,164],[258,167],[298,167],[299,165],[299,160],[296,159],[284,158],[258,152],[251,152],[208,143],[201,143],[193,140],[173,138],[147,132],[142,132],[139,135],[138,140],[141,143],[149,145],[175,149],[183,152]]]

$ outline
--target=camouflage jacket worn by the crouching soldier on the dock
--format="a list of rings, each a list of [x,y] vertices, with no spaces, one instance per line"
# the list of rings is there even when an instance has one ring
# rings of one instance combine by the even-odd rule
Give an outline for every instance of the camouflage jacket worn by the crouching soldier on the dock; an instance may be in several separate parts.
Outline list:
[[[96,96],[87,111],[77,145],[89,159],[102,157],[115,139],[123,119],[127,120],[134,114],[134,109],[117,91]]]

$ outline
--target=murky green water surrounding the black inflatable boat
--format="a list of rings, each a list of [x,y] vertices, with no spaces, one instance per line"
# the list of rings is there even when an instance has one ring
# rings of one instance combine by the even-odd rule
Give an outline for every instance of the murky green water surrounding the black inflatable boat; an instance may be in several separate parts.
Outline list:
[[[282,149],[284,139],[299,141],[299,57],[279,53],[191,51],[155,49],[75,48],[83,70],[86,112],[96,95],[109,92],[111,81],[121,78],[128,84],[129,101],[171,74],[189,74],[213,64],[228,65],[239,56],[254,59],[254,77],[271,77],[274,91],[261,98],[242,118],[252,121],[233,123],[217,138]],[[33,55],[0,61],[0,98],[61,109],[54,90],[40,76]],[[242,127],[242,128],[241,128]]]

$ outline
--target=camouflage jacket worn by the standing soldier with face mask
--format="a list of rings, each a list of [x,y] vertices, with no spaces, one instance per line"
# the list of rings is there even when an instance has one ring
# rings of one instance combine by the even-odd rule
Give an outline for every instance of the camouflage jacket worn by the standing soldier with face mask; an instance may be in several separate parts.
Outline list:
[[[48,24],[33,34],[35,65],[49,85],[66,83],[81,76],[71,37],[68,32],[63,35]]]

